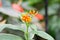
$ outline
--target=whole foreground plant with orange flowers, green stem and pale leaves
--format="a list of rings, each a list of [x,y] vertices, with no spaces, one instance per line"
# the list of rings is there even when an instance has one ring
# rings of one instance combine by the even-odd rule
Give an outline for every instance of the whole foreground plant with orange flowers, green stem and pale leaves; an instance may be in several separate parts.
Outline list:
[[[30,10],[27,13],[22,13],[20,19],[22,20],[22,26],[13,25],[13,24],[0,24],[0,32],[5,28],[10,28],[13,30],[20,30],[24,32],[25,40],[34,40],[34,35],[38,35],[46,40],[54,40],[52,36],[47,34],[44,31],[38,31],[37,26],[31,24],[33,17],[38,14],[38,11]],[[21,36],[13,35],[13,34],[6,34],[0,33],[0,40],[24,40]],[[38,39],[37,39],[38,40]]]

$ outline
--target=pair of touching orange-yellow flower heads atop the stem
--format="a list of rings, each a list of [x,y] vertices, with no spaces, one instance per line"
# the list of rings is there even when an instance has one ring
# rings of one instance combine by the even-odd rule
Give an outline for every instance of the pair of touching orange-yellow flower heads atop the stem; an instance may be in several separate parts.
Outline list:
[[[29,14],[30,14],[30,15],[29,15]],[[30,23],[31,20],[32,20],[32,17],[31,17],[31,16],[34,16],[34,15],[36,15],[36,14],[37,14],[37,12],[36,12],[35,10],[30,10],[30,12],[28,12],[27,14],[23,14],[23,15],[22,15],[22,20],[23,20],[24,22]]]

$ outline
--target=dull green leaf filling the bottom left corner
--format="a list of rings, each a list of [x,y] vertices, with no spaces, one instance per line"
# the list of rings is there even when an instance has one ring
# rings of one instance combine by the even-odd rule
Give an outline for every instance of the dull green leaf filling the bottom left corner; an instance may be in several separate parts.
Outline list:
[[[23,40],[23,39],[16,35],[0,33],[0,40]]]

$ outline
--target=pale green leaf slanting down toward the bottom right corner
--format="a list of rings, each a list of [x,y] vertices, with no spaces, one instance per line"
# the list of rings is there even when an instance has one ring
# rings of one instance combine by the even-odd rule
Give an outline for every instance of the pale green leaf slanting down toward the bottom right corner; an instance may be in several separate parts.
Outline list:
[[[49,34],[47,34],[44,31],[32,31],[34,34],[37,34],[38,36],[47,39],[47,40],[54,40],[54,38],[52,36],[50,36]]]

